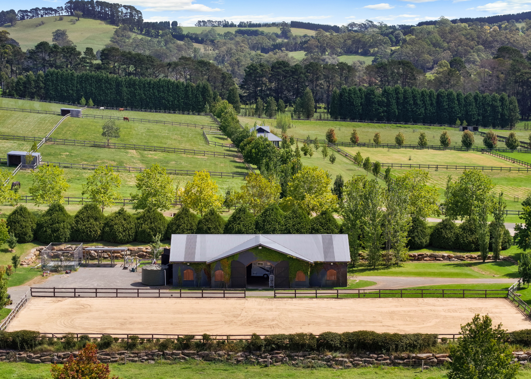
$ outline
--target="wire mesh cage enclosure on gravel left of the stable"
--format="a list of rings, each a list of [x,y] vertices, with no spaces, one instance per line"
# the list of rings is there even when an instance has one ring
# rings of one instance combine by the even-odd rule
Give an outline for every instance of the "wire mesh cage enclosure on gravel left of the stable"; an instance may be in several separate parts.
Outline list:
[[[83,260],[83,244],[51,243],[40,252],[42,270],[75,270]]]

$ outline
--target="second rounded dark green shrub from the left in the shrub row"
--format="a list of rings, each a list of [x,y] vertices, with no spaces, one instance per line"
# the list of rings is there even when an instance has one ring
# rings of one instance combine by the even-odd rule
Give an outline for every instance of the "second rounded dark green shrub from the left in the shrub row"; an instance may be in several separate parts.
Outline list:
[[[41,243],[70,241],[74,218],[63,205],[52,203],[50,208],[37,220],[36,237]]]

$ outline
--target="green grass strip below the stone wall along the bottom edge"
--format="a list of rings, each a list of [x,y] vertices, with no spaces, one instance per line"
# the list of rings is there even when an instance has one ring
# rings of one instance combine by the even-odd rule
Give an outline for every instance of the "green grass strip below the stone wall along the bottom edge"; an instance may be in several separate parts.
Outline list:
[[[154,365],[129,363],[127,365],[112,363],[109,364],[110,375],[117,375],[122,379],[263,379],[263,378],[290,378],[290,379],[332,379],[332,378],[417,378],[421,370],[415,368],[392,367],[381,369],[355,368],[346,370],[335,370],[332,368],[296,368],[288,365],[264,367],[263,365],[233,365],[226,363],[196,362],[189,363],[157,363]],[[50,377],[50,365],[32,365],[29,363],[0,363],[0,379],[24,378],[24,379],[44,379]],[[447,371],[434,367],[429,373],[422,376],[430,379],[445,378]],[[531,378],[531,371],[521,370],[519,379]]]

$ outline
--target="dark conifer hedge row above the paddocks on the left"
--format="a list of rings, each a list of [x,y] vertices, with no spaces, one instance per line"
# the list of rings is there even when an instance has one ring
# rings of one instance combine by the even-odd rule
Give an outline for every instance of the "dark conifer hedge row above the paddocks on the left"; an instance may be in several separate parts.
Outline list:
[[[79,104],[82,97],[98,107],[171,110],[202,113],[212,104],[210,84],[145,79],[104,73],[50,69],[44,76],[45,98]]]

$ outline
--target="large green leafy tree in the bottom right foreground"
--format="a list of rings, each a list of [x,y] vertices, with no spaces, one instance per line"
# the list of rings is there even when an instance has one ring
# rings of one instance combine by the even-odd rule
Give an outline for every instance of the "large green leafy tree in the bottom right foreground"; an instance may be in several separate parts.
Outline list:
[[[506,343],[507,330],[502,324],[492,328],[489,315],[474,315],[472,322],[461,326],[459,343],[450,344],[452,363],[448,379],[513,379],[520,365],[512,362],[512,349]]]

